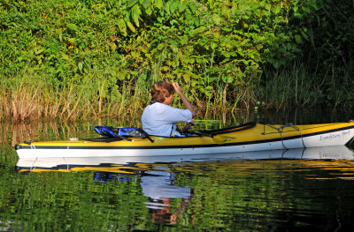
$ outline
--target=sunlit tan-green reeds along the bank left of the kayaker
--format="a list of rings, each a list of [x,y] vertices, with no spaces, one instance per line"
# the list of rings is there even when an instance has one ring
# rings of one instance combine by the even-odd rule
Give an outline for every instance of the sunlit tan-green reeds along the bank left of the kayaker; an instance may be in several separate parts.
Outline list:
[[[22,71],[15,78],[2,79],[0,119],[134,119],[150,98],[150,83],[144,81],[144,75],[136,77],[138,85],[133,81],[117,84],[110,82],[104,71],[91,70],[80,82],[58,85],[45,79],[45,74]]]

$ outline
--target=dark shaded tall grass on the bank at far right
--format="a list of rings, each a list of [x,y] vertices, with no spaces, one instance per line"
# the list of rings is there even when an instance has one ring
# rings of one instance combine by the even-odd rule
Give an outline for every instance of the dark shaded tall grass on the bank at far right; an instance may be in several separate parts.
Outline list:
[[[313,64],[313,63],[312,63]],[[313,67],[300,60],[279,70],[265,69],[265,86],[259,88],[266,107],[280,110],[295,107],[338,106],[349,111],[354,101],[354,65]]]

